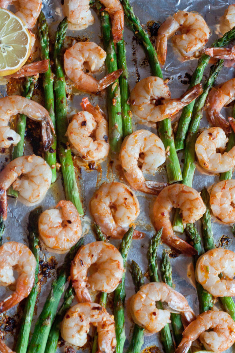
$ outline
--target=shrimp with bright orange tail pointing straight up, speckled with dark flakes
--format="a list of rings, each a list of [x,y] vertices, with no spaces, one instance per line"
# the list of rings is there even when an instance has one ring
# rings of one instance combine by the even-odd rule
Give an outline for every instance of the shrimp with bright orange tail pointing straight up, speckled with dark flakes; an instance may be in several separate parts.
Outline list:
[[[87,97],[81,106],[85,112],[73,116],[66,135],[75,154],[86,161],[97,161],[109,154],[108,123],[100,107],[93,107]]]

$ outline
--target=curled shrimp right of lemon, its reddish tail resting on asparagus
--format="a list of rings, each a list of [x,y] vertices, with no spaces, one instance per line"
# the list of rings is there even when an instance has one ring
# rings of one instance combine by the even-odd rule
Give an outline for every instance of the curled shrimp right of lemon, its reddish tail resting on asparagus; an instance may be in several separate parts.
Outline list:
[[[99,70],[105,61],[106,52],[93,42],[75,43],[64,53],[64,70],[78,89],[85,92],[99,92],[113,83],[122,73],[117,70],[101,80],[83,72],[85,67],[91,72]]]

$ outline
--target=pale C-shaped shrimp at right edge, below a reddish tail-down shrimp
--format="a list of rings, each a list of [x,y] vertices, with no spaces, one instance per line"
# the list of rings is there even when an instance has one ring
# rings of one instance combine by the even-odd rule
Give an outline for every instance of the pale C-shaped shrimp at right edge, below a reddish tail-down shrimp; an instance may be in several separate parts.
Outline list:
[[[197,138],[195,151],[200,165],[209,172],[223,173],[235,166],[235,147],[224,151],[228,138],[221,127],[210,127]]]

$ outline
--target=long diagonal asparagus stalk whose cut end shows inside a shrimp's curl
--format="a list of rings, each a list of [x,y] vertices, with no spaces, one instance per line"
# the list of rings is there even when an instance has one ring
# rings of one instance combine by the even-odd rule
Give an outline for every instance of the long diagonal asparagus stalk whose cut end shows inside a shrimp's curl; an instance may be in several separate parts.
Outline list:
[[[208,96],[210,88],[214,85],[215,80],[219,74],[219,72],[223,68],[224,60],[218,60],[215,65],[211,67],[210,74],[208,79],[206,80],[203,92],[197,100],[197,103],[194,106],[193,117],[190,123],[190,127],[188,130],[186,142],[185,142],[185,162],[183,167],[183,181],[182,183],[192,187],[193,183],[193,175],[196,165],[195,161],[195,143],[197,139],[197,133],[200,125],[200,121],[202,120],[203,107],[206,101],[206,97]],[[182,218],[179,214],[179,210],[175,212],[173,229],[180,229],[180,224],[182,225]],[[181,228],[183,225],[181,226]]]

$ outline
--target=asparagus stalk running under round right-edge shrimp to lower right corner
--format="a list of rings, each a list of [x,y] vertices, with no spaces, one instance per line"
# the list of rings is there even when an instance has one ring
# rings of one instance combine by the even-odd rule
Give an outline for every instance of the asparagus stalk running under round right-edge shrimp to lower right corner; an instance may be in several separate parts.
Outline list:
[[[201,192],[201,196],[204,204],[206,205],[206,212],[202,217],[202,235],[203,235],[203,244],[205,251],[215,248],[212,228],[211,228],[211,214],[210,214],[210,196],[206,188]],[[222,277],[222,274],[221,274]],[[235,321],[235,303],[231,297],[220,297],[219,298],[225,311],[229,313],[231,318]]]

